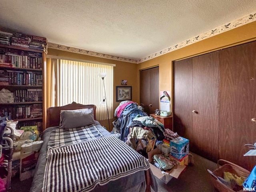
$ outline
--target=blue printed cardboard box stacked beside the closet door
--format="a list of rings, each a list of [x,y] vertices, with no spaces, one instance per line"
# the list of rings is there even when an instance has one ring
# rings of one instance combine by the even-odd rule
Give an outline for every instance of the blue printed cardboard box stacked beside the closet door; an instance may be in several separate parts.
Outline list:
[[[181,136],[170,141],[170,155],[182,159],[189,153],[189,140]]]

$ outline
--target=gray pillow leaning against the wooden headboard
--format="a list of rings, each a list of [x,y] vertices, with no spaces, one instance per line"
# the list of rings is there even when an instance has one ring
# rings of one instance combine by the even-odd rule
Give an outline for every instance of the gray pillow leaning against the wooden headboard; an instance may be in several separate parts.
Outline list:
[[[62,126],[60,128],[82,127],[94,122],[93,108],[88,110],[65,110],[60,113]]]

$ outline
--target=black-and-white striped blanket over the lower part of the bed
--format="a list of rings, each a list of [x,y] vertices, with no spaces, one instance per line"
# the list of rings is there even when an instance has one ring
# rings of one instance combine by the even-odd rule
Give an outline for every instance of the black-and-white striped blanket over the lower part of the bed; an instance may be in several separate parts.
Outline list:
[[[89,192],[148,168],[146,158],[114,136],[49,148],[42,192]]]

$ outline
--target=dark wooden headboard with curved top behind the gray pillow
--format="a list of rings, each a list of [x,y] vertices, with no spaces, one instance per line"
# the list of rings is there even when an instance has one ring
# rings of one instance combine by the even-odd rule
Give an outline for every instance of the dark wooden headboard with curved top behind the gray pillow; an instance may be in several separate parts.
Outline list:
[[[61,106],[61,107],[49,107],[46,110],[46,128],[60,125],[60,110],[75,110],[83,108],[93,108],[94,120],[96,119],[96,106],[95,105],[82,105],[76,102]]]

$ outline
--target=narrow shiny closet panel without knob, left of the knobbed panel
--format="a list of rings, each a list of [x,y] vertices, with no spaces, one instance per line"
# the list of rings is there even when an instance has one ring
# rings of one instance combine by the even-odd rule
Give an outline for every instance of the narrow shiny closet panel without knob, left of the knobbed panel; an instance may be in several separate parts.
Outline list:
[[[173,129],[190,139],[192,131],[192,58],[174,62]]]

